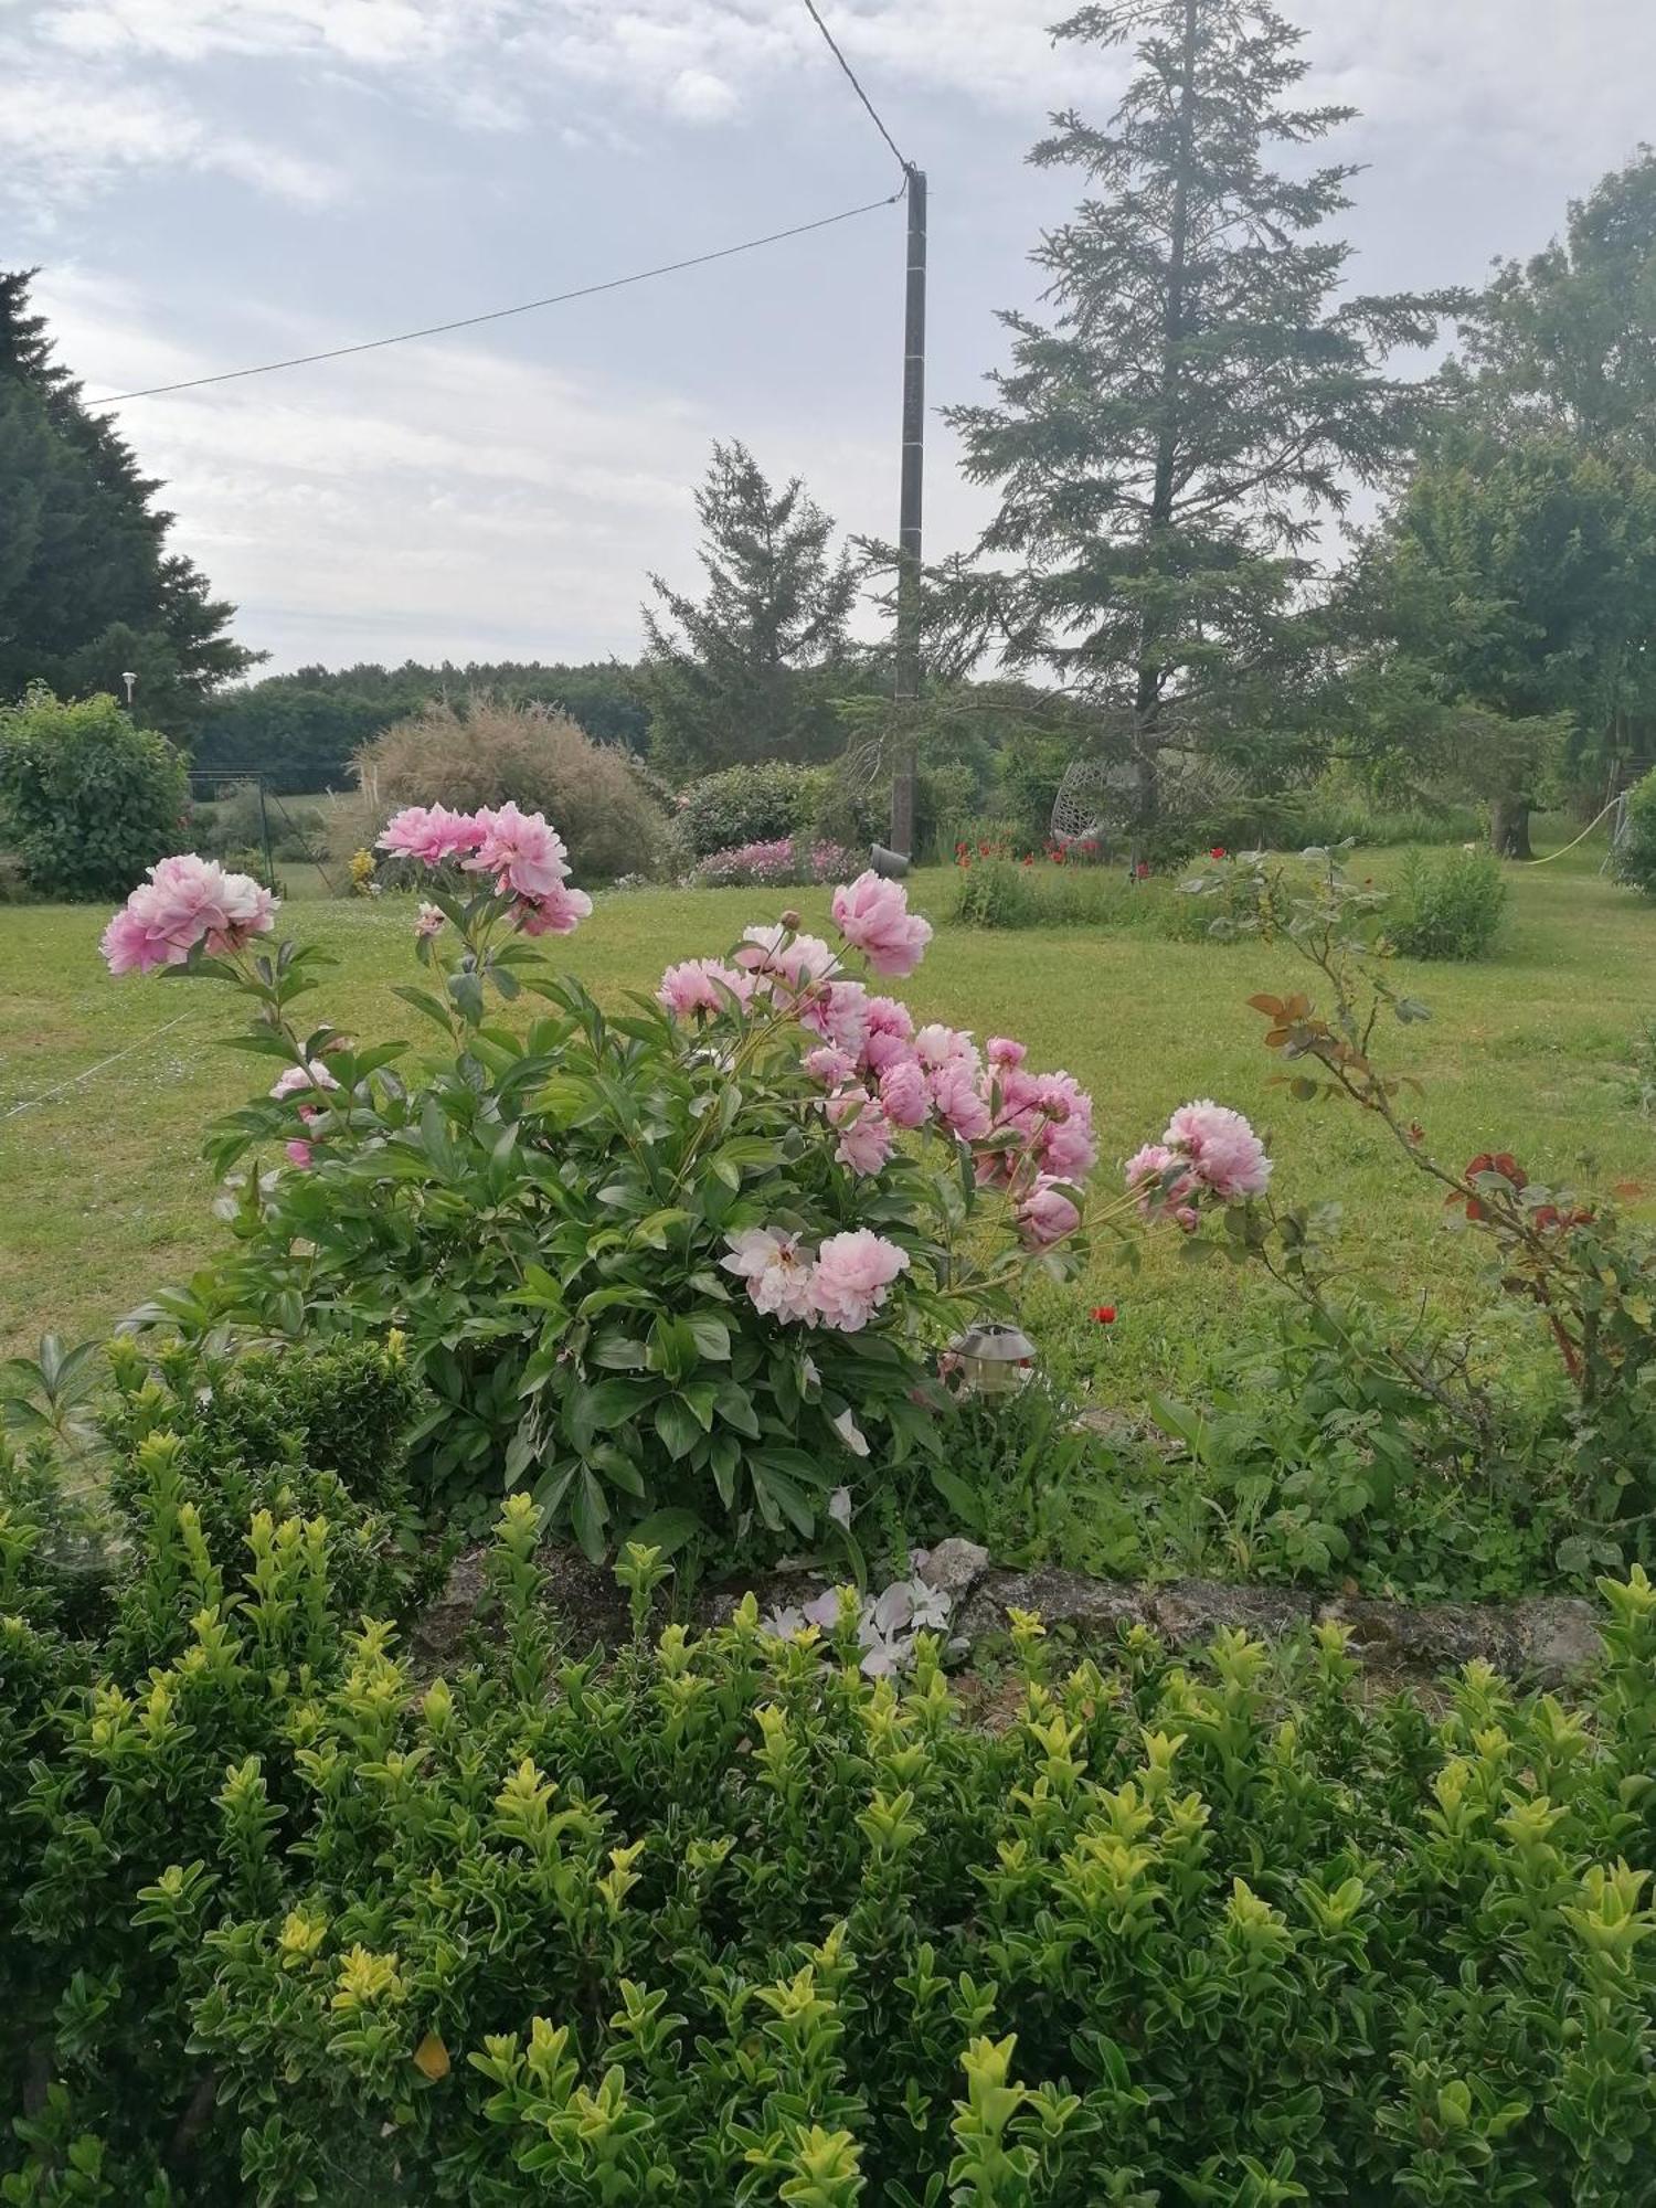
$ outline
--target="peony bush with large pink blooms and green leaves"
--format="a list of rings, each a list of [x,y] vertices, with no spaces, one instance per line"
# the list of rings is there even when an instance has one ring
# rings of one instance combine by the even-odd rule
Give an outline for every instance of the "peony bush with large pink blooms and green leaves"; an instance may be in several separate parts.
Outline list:
[[[110,921],[115,972],[236,987],[238,1044],[280,1062],[210,1142],[236,1252],[137,1316],[395,1329],[431,1391],[415,1479],[461,1521],[530,1488],[594,1557],[640,1532],[854,1550],[881,1475],[947,1453],[952,1336],[1069,1263],[1091,1097],[881,987],[932,930],[874,874],[835,890],[837,943],[784,912],[607,1011],[534,947],[592,912],[541,815],[415,806],[380,841],[428,890],[426,985],[397,991],[424,1053],[307,1020],[320,954],[214,861],[163,861]]]

